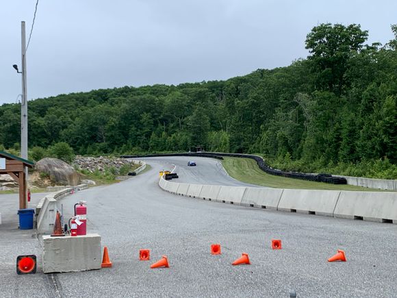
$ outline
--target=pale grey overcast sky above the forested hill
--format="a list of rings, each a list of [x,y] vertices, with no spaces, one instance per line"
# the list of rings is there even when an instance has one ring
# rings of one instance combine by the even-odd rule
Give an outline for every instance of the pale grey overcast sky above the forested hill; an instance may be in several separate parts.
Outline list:
[[[36,0],[0,0],[0,104],[21,93],[21,21]],[[318,23],[393,38],[396,0],[39,0],[28,99],[98,88],[228,79],[306,58]]]

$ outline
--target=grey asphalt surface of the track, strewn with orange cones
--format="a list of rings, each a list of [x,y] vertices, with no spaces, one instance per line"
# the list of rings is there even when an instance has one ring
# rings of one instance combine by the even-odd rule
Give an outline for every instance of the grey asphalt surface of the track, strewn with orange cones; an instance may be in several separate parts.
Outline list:
[[[181,182],[242,185],[222,171],[209,175],[214,160],[196,161],[194,169],[177,169]],[[61,201],[70,211],[65,216],[79,199],[88,201],[89,232],[101,234],[112,268],[17,276],[16,256],[34,245],[21,238],[14,251],[5,245],[8,253],[0,253],[0,297],[289,297],[290,289],[298,297],[397,297],[397,225],[171,195],[159,188],[158,171],[187,160],[148,162],[146,173]],[[282,250],[270,249],[272,238],[283,240]],[[209,254],[212,243],[222,245],[221,256]],[[139,249],[151,249],[151,261],[139,261]],[[326,262],[337,249],[346,251],[348,262]],[[242,252],[251,265],[231,266]],[[170,268],[150,269],[163,254]]]

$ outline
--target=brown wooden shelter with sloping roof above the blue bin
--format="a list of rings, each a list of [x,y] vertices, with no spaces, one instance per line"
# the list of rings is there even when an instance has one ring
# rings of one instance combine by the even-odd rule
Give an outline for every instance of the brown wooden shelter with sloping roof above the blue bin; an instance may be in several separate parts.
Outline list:
[[[0,151],[0,175],[10,175],[19,185],[19,209],[27,207],[27,185],[25,179],[25,170],[32,168],[34,162],[24,160],[10,153]]]

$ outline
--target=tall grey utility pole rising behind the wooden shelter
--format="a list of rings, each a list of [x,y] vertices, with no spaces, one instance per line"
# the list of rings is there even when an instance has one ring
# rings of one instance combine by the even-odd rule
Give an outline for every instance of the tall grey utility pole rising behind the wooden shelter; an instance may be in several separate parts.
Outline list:
[[[21,53],[22,53],[21,158],[27,160],[27,88],[26,88],[25,21],[21,21]],[[27,167],[25,167],[25,184],[27,185]],[[25,198],[26,198],[26,194],[25,194]]]

